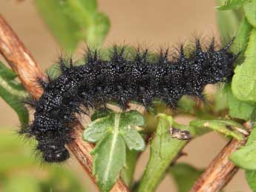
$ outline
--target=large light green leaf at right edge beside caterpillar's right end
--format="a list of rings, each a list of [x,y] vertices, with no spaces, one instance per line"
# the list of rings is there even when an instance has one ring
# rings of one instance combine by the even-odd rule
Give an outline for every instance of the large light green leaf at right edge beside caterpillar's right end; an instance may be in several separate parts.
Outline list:
[[[234,96],[244,102],[254,104],[256,102],[256,29],[252,30],[249,44],[246,48],[246,59],[243,64],[237,66],[234,70],[232,79],[232,93]]]

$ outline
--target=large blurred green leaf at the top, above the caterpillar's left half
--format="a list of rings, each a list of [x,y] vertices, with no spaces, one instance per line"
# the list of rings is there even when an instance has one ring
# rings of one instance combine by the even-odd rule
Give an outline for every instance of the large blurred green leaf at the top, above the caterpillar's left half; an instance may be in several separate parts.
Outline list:
[[[108,33],[108,17],[97,11],[96,0],[36,0],[42,18],[59,44],[73,51],[85,40],[99,47]]]

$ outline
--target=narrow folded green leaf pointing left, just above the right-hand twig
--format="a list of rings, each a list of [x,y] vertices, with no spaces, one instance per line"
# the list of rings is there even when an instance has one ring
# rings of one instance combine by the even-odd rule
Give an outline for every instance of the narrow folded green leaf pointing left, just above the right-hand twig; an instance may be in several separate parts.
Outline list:
[[[212,130],[216,130],[219,133],[223,133],[225,136],[232,136],[238,141],[242,141],[244,139],[243,133],[240,133],[237,130],[237,128],[243,130],[243,126],[228,119],[195,120],[191,121],[190,125],[197,128],[210,128]]]

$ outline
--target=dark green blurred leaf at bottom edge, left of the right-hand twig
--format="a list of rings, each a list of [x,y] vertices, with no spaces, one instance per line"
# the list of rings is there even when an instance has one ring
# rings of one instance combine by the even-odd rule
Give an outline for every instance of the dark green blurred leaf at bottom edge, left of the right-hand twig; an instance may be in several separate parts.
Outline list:
[[[203,173],[203,170],[198,170],[186,163],[177,163],[169,169],[169,173],[174,177],[178,191],[187,192],[192,188],[201,173]]]

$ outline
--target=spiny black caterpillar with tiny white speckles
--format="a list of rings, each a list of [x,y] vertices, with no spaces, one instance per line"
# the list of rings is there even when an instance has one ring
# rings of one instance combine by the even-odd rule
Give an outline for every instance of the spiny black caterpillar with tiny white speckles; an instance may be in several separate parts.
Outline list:
[[[157,53],[157,60],[149,59],[148,50],[137,50],[129,58],[125,47],[114,47],[111,59],[101,59],[96,50],[88,48],[84,64],[74,66],[70,60],[59,59],[61,75],[44,82],[45,92],[40,99],[29,103],[34,109],[34,121],[22,133],[34,136],[37,150],[46,162],[62,162],[69,158],[65,144],[72,142],[72,123],[77,113],[105,107],[116,102],[125,110],[135,101],[146,109],[154,99],[171,107],[183,95],[203,99],[208,84],[225,82],[232,76],[237,55],[229,53],[232,42],[214,50],[214,41],[202,50],[196,40],[190,56],[180,47],[176,59],[169,59],[168,50]]]

